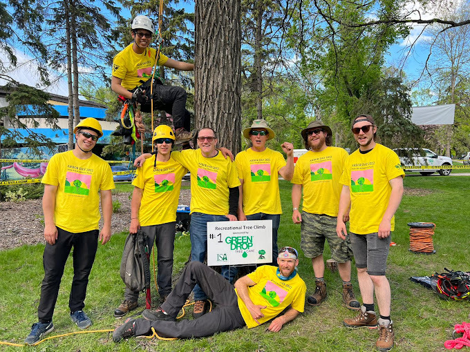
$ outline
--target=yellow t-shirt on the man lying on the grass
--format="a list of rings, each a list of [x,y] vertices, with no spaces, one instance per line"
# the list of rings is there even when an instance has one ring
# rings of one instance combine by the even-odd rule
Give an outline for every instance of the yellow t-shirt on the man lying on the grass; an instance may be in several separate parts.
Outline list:
[[[261,309],[264,317],[258,319],[259,324],[279,315],[288,306],[300,313],[303,312],[305,306],[307,286],[299,274],[290,280],[283,281],[277,277],[276,271],[276,266],[263,265],[248,274],[248,277],[256,282],[255,285],[248,288],[250,300],[254,304],[266,306],[265,309]],[[259,324],[253,319],[238,293],[236,295],[238,296],[238,309],[240,309],[248,329],[258,326]]]

